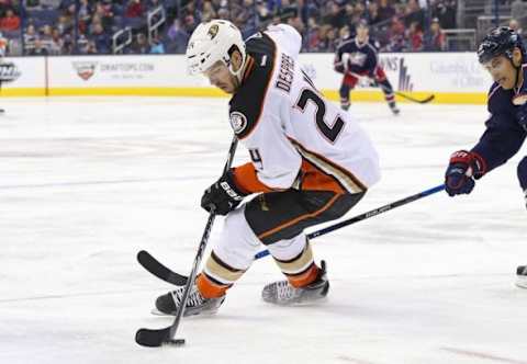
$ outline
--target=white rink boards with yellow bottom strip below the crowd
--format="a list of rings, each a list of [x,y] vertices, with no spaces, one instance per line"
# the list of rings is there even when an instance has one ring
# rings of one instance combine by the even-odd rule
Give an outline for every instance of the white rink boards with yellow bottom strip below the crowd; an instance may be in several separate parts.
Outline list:
[[[341,75],[333,70],[333,58],[301,54],[300,64],[329,99],[338,100]],[[2,96],[225,96],[206,79],[188,76],[181,55],[21,57],[4,62],[14,65],[14,80],[3,82]],[[485,103],[492,83],[473,53],[381,54],[380,62],[395,90],[414,98],[433,93],[436,103]],[[351,99],[382,101],[383,94],[359,86]]]

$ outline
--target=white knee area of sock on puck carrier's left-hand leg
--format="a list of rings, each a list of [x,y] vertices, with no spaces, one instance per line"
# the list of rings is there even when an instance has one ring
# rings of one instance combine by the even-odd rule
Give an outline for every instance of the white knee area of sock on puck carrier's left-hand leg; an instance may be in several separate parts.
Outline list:
[[[223,230],[214,241],[214,253],[234,269],[247,270],[258,252],[260,241],[247,224],[245,206],[229,213]]]

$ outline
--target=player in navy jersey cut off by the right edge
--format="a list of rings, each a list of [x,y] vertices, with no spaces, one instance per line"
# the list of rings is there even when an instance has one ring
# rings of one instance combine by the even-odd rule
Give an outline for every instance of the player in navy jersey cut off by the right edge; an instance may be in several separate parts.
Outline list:
[[[480,44],[478,57],[494,79],[487,101],[491,116],[480,141],[450,157],[445,175],[450,196],[470,193],[475,180],[504,164],[527,137],[527,55],[522,38],[509,27],[494,29]],[[527,157],[517,174],[527,206]],[[527,288],[527,268],[518,266],[517,275],[517,285]]]

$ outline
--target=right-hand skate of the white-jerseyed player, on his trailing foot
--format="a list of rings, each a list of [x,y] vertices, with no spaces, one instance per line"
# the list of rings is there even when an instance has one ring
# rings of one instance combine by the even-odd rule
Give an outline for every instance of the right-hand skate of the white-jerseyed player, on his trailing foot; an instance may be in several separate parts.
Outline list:
[[[293,305],[312,303],[326,297],[329,281],[326,276],[326,262],[321,261],[318,277],[304,287],[295,288],[287,280],[270,283],[264,287],[261,298],[274,305]]]

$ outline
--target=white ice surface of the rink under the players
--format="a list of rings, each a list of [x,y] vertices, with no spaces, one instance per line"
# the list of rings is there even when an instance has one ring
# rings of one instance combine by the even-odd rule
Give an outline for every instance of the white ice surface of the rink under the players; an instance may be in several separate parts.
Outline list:
[[[0,363],[527,363],[527,289],[514,285],[527,263],[525,146],[469,196],[438,193],[313,240],[326,303],[265,304],[261,287],[281,274],[262,259],[217,316],[183,319],[186,346],[146,349],[135,331],[171,323],[149,314],[170,286],[135,254],[189,272],[201,193],[231,141],[227,101],[1,100]],[[401,109],[352,105],[383,179],[347,217],[440,184],[486,117],[484,106]]]

